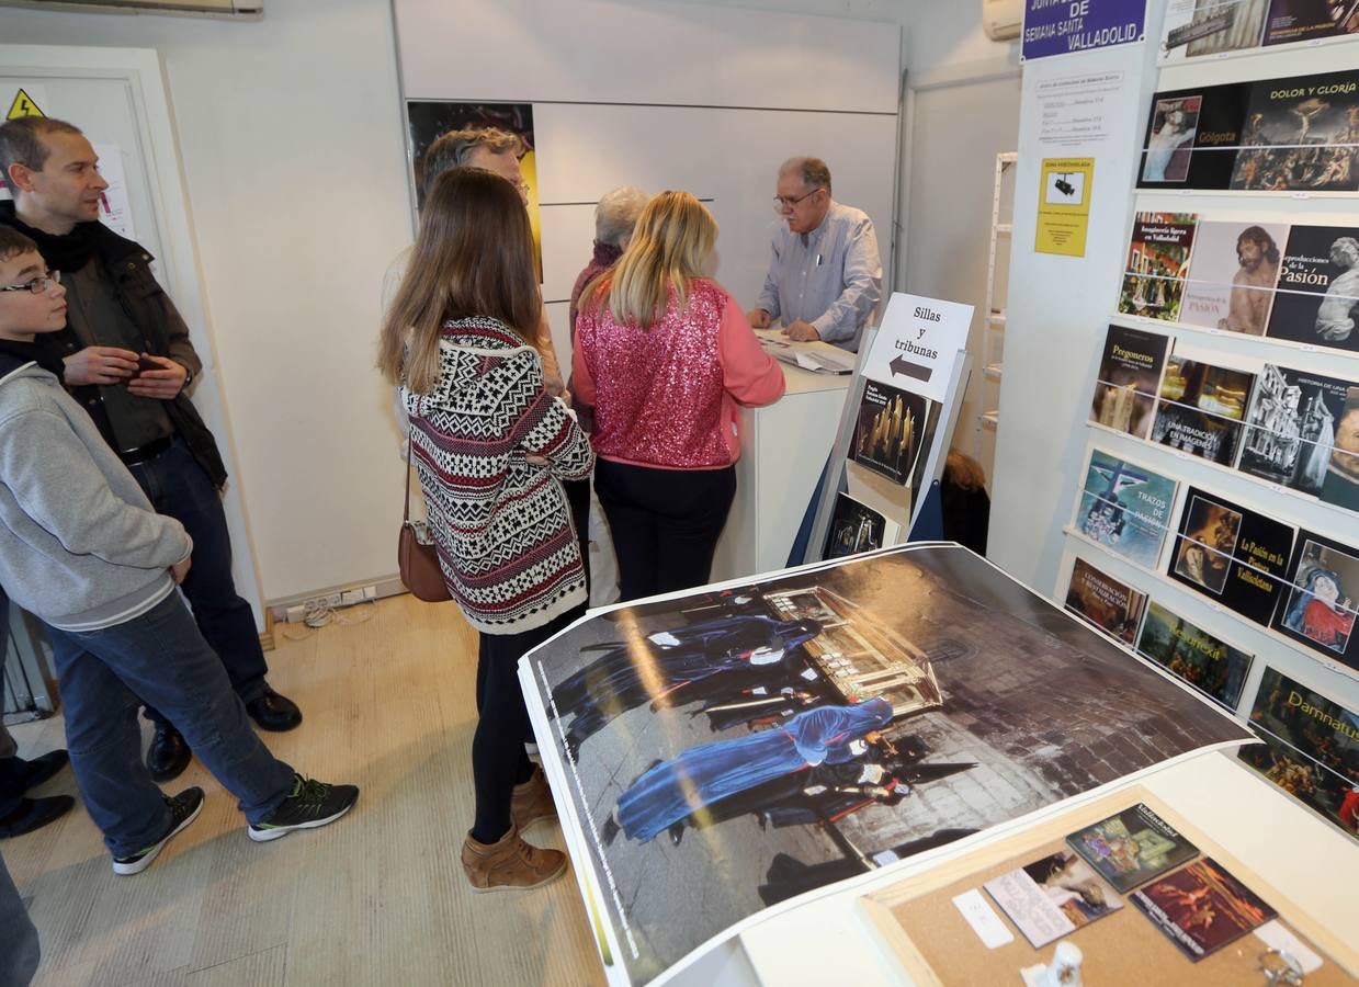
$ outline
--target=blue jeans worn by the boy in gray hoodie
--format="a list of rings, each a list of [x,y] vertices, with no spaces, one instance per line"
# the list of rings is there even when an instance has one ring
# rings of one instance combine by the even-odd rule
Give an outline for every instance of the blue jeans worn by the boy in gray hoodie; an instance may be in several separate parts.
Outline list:
[[[143,700],[164,712],[251,822],[292,791],[292,768],[269,753],[250,727],[222,662],[177,593],[117,627],[48,629],[71,767],[86,810],[114,856],[141,851],[170,824],[160,789],[141,761]]]

